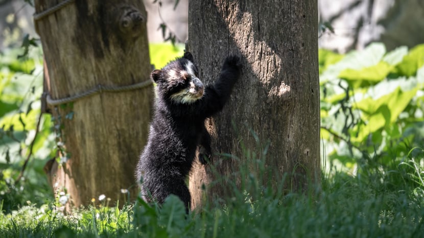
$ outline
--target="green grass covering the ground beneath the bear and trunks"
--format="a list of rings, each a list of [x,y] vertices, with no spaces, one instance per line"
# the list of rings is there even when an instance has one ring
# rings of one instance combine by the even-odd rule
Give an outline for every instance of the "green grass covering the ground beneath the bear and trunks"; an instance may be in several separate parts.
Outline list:
[[[0,215],[0,236],[422,237],[423,160],[409,153],[404,162],[385,167],[372,161],[378,158],[364,158],[356,176],[330,171],[305,193],[234,189],[233,198],[189,216],[176,197],[161,208],[141,200],[122,209],[104,202],[66,216],[56,201],[28,205]]]

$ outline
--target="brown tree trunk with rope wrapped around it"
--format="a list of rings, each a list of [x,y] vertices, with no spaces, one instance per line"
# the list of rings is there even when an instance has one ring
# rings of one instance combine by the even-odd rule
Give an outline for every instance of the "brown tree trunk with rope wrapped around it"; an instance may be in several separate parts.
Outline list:
[[[121,189],[137,195],[134,168],[147,142],[153,98],[145,8],[134,0],[76,0],[55,9],[57,2],[36,0],[34,15],[59,156],[69,157],[46,165],[51,183],[75,206],[101,194],[122,205],[128,196]],[[123,86],[129,88],[110,91]],[[92,89],[97,93],[70,99],[67,107],[55,105]]]

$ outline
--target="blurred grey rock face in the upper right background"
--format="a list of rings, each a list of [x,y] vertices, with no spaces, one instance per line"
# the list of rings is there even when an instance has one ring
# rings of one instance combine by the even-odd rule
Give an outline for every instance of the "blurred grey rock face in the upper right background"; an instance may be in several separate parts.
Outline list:
[[[334,28],[320,32],[320,47],[345,52],[381,41],[390,50],[424,42],[422,0],[319,0],[318,9],[320,23]]]

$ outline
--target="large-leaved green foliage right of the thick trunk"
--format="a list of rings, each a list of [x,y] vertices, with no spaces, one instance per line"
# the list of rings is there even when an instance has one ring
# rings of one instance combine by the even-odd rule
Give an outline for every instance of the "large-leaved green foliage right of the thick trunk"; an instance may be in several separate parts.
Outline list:
[[[421,144],[423,47],[386,52],[384,45],[373,43],[339,55],[322,70],[321,135],[328,165],[354,171],[366,154],[384,158],[382,163],[401,163],[405,151]],[[334,58],[322,52],[321,58]]]

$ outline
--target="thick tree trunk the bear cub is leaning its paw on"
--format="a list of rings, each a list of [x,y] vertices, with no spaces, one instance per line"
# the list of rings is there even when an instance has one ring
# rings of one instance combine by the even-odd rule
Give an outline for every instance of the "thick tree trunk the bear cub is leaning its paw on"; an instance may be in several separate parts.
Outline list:
[[[203,81],[218,77],[229,54],[244,65],[223,112],[207,123],[214,152],[233,156],[195,166],[193,206],[202,203],[203,184],[208,199],[228,196],[230,183],[240,187],[247,177],[240,168],[274,191],[319,181],[317,24],[317,1],[190,1],[187,48]]]

